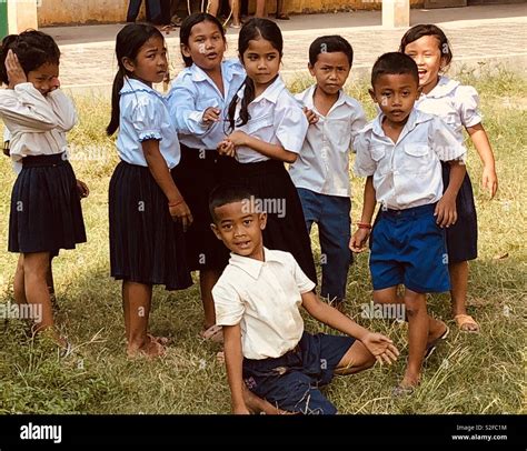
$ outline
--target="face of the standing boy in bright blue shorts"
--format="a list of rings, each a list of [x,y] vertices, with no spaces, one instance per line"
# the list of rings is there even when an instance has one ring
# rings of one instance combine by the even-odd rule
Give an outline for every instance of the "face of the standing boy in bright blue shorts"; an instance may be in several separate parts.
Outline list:
[[[386,73],[377,78],[370,94],[389,122],[404,124],[419,98],[419,88],[411,73]]]

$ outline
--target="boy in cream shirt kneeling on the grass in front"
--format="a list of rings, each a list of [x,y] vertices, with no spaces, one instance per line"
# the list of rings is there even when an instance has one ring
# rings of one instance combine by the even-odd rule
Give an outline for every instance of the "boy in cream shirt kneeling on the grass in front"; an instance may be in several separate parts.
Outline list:
[[[391,364],[399,352],[387,337],[320,301],[290,253],[264,247],[267,217],[255,200],[243,187],[220,186],[209,202],[211,228],[231,251],[212,297],[223,327],[232,411],[249,413],[257,400],[257,407],[275,405],[277,413],[337,413],[319,387],[376,360]],[[300,304],[349,337],[306,332]]]

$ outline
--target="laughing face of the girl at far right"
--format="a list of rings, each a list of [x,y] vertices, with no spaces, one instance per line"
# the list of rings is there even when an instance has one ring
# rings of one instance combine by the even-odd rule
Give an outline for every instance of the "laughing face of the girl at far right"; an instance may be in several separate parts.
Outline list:
[[[405,47],[405,53],[417,64],[419,87],[425,93],[430,92],[436,87],[439,72],[445,66],[439,46],[439,39],[435,36],[424,36]]]

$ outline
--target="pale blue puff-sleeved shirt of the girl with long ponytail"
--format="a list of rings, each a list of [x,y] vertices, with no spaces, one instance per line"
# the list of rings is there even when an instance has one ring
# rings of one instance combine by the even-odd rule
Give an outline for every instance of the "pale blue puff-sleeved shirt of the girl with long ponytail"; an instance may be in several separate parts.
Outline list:
[[[120,91],[119,136],[117,151],[121,160],[130,164],[148,167],[142,142],[159,141],[159,151],[169,169],[179,163],[178,133],[170,120],[167,99],[142,81],[125,78]]]

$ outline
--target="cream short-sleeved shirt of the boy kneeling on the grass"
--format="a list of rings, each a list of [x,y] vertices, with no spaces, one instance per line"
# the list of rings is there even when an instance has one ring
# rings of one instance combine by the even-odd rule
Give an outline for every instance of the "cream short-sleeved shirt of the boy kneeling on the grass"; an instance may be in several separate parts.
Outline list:
[[[231,253],[212,289],[216,323],[239,323],[243,357],[256,360],[284,355],[298,344],[301,294],[315,288],[289,252],[264,248],[264,255],[259,261]]]

